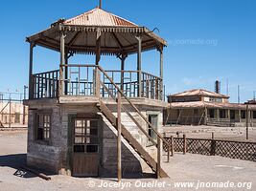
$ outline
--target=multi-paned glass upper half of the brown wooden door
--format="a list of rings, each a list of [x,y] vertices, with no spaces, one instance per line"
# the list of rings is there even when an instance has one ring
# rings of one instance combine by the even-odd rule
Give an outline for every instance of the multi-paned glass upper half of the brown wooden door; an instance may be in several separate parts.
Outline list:
[[[98,152],[98,119],[74,119],[75,153],[97,153]]]

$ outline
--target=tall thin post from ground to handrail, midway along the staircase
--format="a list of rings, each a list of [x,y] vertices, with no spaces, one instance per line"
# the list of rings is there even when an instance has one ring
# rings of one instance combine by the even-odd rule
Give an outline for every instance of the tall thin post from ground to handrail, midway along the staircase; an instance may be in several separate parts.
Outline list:
[[[121,154],[121,94],[117,94],[117,179],[122,179],[122,154]]]

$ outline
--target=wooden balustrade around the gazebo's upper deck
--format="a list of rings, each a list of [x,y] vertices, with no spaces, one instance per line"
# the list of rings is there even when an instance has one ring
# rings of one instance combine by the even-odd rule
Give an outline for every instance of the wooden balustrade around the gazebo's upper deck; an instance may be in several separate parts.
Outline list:
[[[58,86],[61,87],[62,96],[95,96],[95,70],[96,65],[64,65],[63,76],[65,76],[59,86],[59,73],[52,71],[41,74],[34,74],[33,98],[58,97]],[[151,99],[163,99],[163,80],[152,74],[138,71],[105,71],[109,78],[122,90],[128,97],[139,97],[138,89],[140,86],[141,96]],[[141,83],[137,77],[141,74]],[[100,76],[107,89],[113,96],[117,96],[117,91],[113,84],[105,77]],[[104,88],[100,90],[102,97],[110,97]]]

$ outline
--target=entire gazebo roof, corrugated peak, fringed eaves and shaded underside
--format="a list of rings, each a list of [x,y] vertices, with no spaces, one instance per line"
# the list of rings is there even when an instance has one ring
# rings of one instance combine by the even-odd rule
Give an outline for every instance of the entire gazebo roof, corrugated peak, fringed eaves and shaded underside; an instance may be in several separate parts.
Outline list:
[[[27,41],[59,51],[60,32],[66,35],[66,49],[74,53],[96,53],[97,33],[101,34],[102,54],[136,53],[136,36],[142,37],[142,51],[167,45],[164,39],[147,28],[99,8],[68,20],[60,19],[48,30],[28,37]]]

